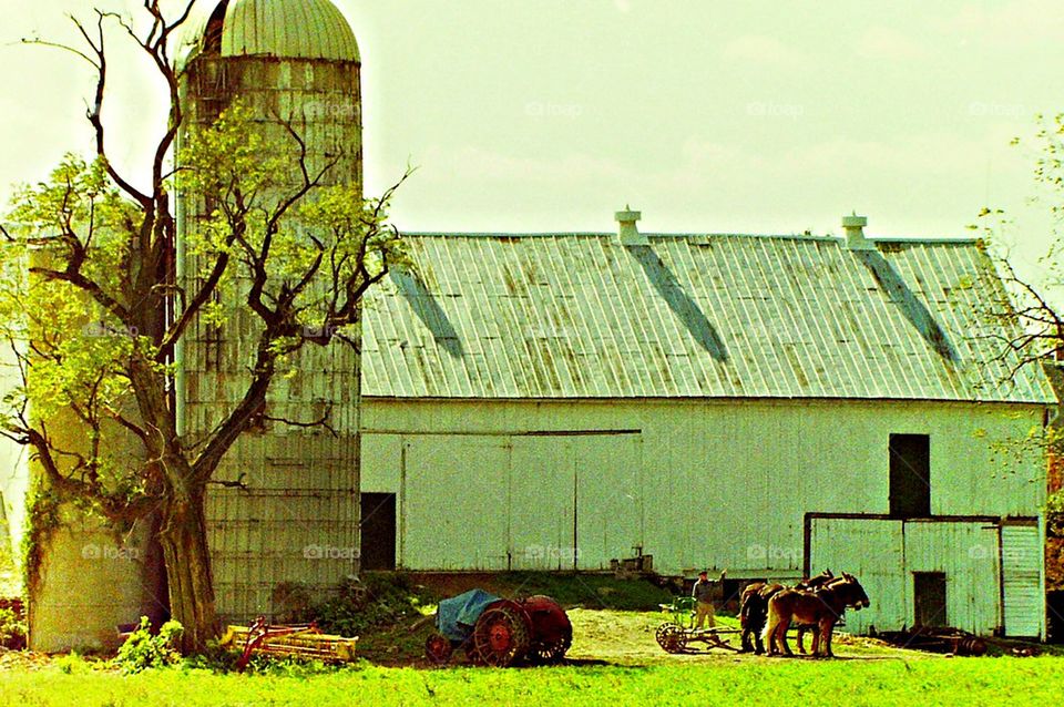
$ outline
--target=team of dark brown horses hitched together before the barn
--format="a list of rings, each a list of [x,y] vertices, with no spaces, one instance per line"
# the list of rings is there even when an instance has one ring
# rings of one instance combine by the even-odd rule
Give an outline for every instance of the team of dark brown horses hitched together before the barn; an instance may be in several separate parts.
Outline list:
[[[787,629],[795,624],[800,653],[806,652],[805,632],[812,631],[812,654],[831,657],[831,634],[842,613],[847,607],[860,611],[868,605],[864,587],[846,572],[836,576],[826,570],[792,587],[764,582],[748,584],[743,590],[739,609],[743,649],[760,655],[767,642],[768,655],[794,655],[787,645]]]

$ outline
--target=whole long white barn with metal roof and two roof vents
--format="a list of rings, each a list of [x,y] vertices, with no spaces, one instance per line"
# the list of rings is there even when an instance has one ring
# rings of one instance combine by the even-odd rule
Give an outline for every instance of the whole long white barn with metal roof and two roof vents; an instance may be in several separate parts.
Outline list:
[[[411,236],[367,305],[364,568],[861,577],[850,628],[1042,636],[1041,371],[971,240]],[[636,550],[638,549],[638,550]]]

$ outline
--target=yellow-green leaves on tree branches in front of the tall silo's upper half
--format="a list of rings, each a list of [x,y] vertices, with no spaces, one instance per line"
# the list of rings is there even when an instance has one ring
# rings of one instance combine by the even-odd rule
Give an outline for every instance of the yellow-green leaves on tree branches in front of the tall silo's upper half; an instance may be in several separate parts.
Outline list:
[[[293,140],[295,140],[293,137]],[[339,314],[345,301],[361,296],[360,287],[379,278],[387,268],[408,263],[400,235],[385,225],[389,191],[364,199],[361,186],[299,183],[293,172],[293,155],[267,144],[252,110],[236,102],[206,130],[192,131],[180,161],[182,189],[213,195],[213,214],[187,233],[186,267],[206,278],[218,258],[233,260],[218,290],[222,297],[204,309],[208,321],[223,325],[239,303],[241,287],[254,280],[260,266],[266,275],[264,291],[272,300],[298,288],[308,273],[315,283],[298,290],[289,311],[304,331],[352,339],[357,320]],[[311,182],[321,165],[308,162]],[[296,204],[289,198],[307,187]],[[257,254],[269,257],[256,263]],[[234,295],[236,295],[234,297]],[[228,307],[228,309],[227,309]],[[276,338],[272,346],[284,357],[300,344],[299,337]]]

